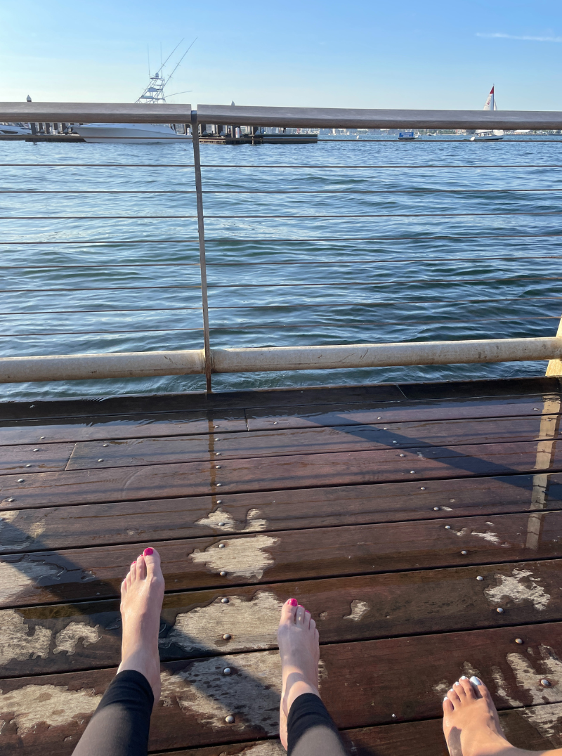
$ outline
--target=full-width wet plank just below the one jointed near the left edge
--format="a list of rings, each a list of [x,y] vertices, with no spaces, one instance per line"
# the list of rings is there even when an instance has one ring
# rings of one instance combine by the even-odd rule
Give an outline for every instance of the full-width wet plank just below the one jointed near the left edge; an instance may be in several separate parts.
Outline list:
[[[546,450],[544,445],[548,445]],[[0,507],[48,506],[177,496],[321,488],[332,485],[425,481],[557,471],[562,451],[554,442],[303,454],[220,463],[190,462],[139,467],[41,472],[2,479]]]

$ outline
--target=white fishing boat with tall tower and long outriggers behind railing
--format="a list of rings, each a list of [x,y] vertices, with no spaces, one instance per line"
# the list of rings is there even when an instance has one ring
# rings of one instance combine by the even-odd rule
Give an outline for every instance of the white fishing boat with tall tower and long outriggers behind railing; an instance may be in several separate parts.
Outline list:
[[[164,88],[169,80],[172,79],[175,71],[178,70],[182,60],[191,50],[195,39],[191,42],[191,45],[189,45],[178,63],[175,64],[172,73],[170,73],[169,76],[164,76],[164,67],[182,42],[183,39],[178,45],[175,45],[175,48],[166,58],[164,63],[160,64],[160,70],[158,70],[157,73],[151,75],[149,72],[148,85],[144,88],[142,95],[135,102],[148,105],[166,104]],[[184,95],[185,92],[175,92],[174,94]],[[169,95],[169,97],[173,97],[173,95]],[[84,141],[92,143],[123,142],[124,144],[151,144],[162,141],[191,140],[191,136],[176,132],[174,125],[169,123],[85,123],[78,126],[75,131],[79,133]]]

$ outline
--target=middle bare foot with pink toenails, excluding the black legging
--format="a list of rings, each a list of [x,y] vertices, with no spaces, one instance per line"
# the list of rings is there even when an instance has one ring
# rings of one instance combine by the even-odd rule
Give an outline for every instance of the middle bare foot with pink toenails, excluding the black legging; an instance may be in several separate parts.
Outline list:
[[[303,693],[318,692],[318,662],[320,648],[316,623],[304,606],[289,599],[281,609],[277,631],[283,674],[281,706],[279,708],[279,737],[287,750],[287,716],[293,701]]]

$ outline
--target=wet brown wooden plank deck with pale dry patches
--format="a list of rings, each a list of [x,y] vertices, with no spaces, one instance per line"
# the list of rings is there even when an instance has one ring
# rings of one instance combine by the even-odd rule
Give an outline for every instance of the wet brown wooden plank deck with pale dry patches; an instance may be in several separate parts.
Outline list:
[[[0,753],[73,751],[148,544],[151,751],[281,754],[290,596],[353,753],[445,754],[461,674],[515,745],[560,747],[561,432],[557,379],[0,404]]]

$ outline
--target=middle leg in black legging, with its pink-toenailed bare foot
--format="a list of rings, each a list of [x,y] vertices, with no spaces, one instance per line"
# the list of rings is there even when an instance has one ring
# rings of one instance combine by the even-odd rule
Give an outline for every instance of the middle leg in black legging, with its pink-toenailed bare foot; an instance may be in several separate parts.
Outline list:
[[[278,627],[283,686],[279,736],[290,756],[344,756],[340,736],[318,692],[318,630],[297,600],[281,609]]]

